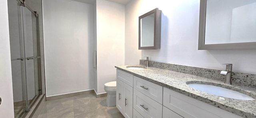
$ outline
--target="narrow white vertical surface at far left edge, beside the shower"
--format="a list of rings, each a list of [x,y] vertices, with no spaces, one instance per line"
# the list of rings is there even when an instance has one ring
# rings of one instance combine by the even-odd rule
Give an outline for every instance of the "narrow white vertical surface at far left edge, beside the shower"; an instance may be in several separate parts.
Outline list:
[[[7,0],[1,1],[0,11],[0,117],[14,118]]]

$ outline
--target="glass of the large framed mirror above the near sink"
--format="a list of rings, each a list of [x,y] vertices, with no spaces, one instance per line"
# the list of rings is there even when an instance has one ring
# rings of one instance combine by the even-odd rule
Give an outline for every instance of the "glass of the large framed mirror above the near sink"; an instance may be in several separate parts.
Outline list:
[[[256,42],[256,0],[206,0],[204,38],[204,44]]]

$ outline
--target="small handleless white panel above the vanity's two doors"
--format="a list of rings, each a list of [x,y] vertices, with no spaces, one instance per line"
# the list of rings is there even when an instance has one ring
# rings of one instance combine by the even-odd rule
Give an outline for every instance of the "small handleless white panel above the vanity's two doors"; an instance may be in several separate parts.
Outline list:
[[[133,87],[133,75],[116,69],[116,78]]]

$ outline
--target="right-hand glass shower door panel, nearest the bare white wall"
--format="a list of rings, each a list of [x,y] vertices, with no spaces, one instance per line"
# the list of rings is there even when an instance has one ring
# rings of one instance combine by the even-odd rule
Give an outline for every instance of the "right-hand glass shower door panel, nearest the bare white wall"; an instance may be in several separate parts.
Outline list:
[[[34,14],[23,7],[24,16],[24,55],[26,65],[26,87],[27,87],[27,105],[29,109],[34,103],[34,100],[40,94],[40,56],[38,47],[38,30],[37,30],[37,18]]]

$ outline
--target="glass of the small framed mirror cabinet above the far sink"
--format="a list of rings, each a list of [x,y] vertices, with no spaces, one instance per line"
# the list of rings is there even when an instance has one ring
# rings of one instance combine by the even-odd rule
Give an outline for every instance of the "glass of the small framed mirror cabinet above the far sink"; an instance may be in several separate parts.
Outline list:
[[[140,19],[140,47],[154,46],[154,13]]]

